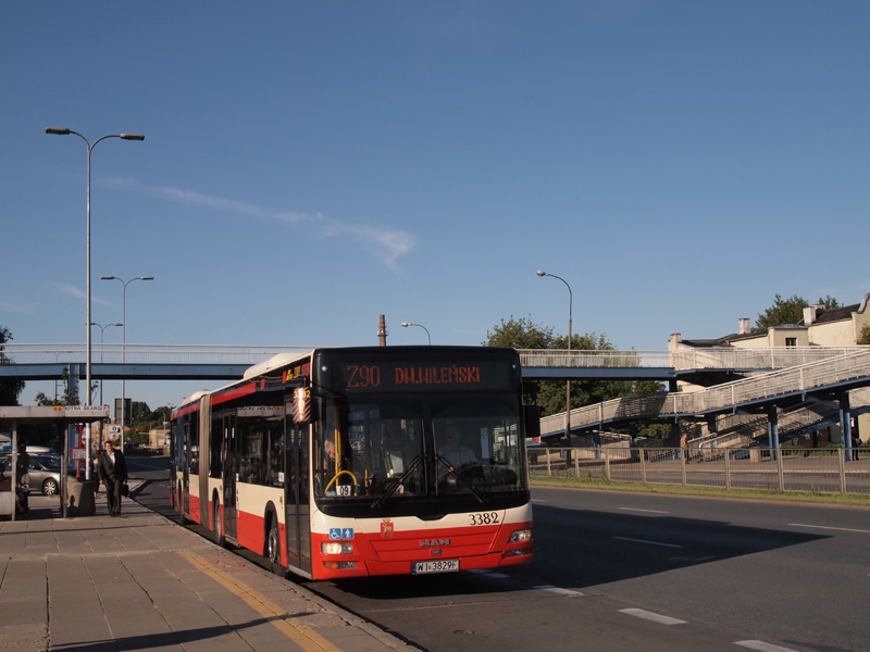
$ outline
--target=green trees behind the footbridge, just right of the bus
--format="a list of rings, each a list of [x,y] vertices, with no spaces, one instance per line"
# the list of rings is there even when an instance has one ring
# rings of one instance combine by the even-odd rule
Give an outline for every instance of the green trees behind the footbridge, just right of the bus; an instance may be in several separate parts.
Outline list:
[[[568,336],[554,335],[552,328],[535,324],[530,318],[501,319],[493,333],[486,333],[486,347],[511,347],[513,349],[568,349]],[[613,351],[614,347],[601,334],[587,333],[572,335],[571,349],[574,351]],[[537,403],[540,416],[564,412],[568,392],[566,384],[559,380],[536,380],[537,396],[526,397],[525,401]],[[635,397],[658,393],[659,383],[650,380],[572,380],[571,409],[592,405],[620,397]]]

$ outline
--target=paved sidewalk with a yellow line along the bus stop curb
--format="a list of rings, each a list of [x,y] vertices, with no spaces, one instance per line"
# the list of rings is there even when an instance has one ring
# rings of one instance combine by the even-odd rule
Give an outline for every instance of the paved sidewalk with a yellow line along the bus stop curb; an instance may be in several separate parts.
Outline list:
[[[415,648],[135,501],[64,519],[33,497],[27,521],[0,522],[0,650]]]

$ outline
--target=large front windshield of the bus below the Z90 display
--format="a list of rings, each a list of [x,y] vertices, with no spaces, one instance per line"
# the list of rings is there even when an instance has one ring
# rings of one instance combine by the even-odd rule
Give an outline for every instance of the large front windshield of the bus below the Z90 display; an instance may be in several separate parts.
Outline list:
[[[373,393],[319,404],[314,497],[327,513],[417,513],[422,503],[448,513],[527,500],[515,397]]]

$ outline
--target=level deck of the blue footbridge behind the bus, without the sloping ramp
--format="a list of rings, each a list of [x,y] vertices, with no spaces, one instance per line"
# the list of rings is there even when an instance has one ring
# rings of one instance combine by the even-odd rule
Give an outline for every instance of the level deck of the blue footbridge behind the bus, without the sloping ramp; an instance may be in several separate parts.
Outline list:
[[[83,343],[4,343],[8,364],[0,378],[51,380],[84,369]],[[91,377],[96,380],[234,380],[245,371],[278,353],[304,353],[318,347],[216,344],[95,344]],[[861,347],[772,347],[759,349],[687,347],[675,351],[520,350],[529,380],[668,380],[710,386],[746,374],[783,369]],[[80,375],[84,375],[82,373]]]

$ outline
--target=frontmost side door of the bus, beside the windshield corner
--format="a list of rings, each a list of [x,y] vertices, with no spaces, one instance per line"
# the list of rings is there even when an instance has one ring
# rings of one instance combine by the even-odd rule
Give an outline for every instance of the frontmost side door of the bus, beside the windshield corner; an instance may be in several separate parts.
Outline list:
[[[287,565],[311,574],[311,522],[309,509],[309,426],[293,422],[293,403],[285,405],[284,504],[286,505]]]

